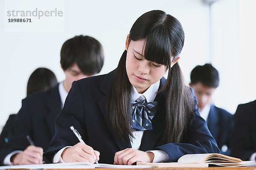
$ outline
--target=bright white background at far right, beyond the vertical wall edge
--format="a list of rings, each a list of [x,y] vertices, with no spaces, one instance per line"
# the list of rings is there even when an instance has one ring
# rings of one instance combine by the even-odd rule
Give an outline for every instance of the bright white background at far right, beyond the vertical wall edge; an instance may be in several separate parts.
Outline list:
[[[212,64],[220,74],[214,101],[231,113],[256,99],[255,8],[256,0],[220,0],[212,5]]]

